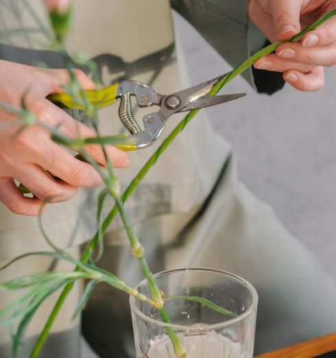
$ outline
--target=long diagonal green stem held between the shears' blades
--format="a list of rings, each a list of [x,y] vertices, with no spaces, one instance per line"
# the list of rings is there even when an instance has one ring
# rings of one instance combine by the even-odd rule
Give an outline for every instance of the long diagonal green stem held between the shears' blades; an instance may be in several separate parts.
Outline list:
[[[313,23],[312,25],[310,25],[309,27],[304,29],[302,32],[300,32],[300,34],[294,36],[293,38],[289,39],[288,41],[281,41],[281,42],[274,43],[274,44],[269,45],[269,46],[265,47],[264,49],[261,49],[260,51],[256,52],[253,56],[248,58],[248,60],[246,60],[242,64],[239,64],[239,66],[236,67],[232,72],[230,72],[224,78],[223,81],[219,82],[219,84],[217,84],[217,86],[215,86],[215,88],[213,88],[213,91],[211,91],[210,95],[216,95],[218,93],[218,91],[225,84],[228,84],[228,82],[230,82],[235,77],[237,77],[237,75],[241,74],[243,71],[245,71],[245,69],[248,69],[248,67],[252,66],[252,64],[254,64],[254,62],[256,62],[256,60],[259,60],[259,58],[262,58],[263,56],[275,51],[276,48],[279,45],[281,45],[282,43],[300,40],[304,34],[306,34],[309,31],[312,31],[313,29],[316,29],[317,27],[319,27],[320,25],[322,25],[323,23],[325,23],[326,21],[328,21],[335,15],[336,15],[336,9],[333,9],[330,12],[324,14],[324,16],[322,16],[320,19],[315,21],[315,23]],[[143,178],[145,177],[145,175],[147,174],[149,169],[156,163],[156,160],[158,160],[158,158],[163,154],[163,152],[165,152],[167,147],[169,147],[171,142],[176,138],[176,136],[178,136],[178,134],[184,129],[184,127],[187,126],[187,124],[191,121],[191,119],[193,119],[193,117],[195,117],[197,112],[198,112],[198,110],[191,110],[191,112],[189,112],[188,115],[186,117],[184,117],[184,119],[182,119],[182,121],[180,121],[178,126],[176,126],[176,128],[173,129],[173,131],[169,134],[169,136],[167,136],[165,141],[163,141],[163,143],[160,145],[158,150],[156,150],[156,152],[154,152],[154,154],[149,158],[149,160],[147,160],[147,163],[145,163],[143,168],[139,171],[139,173],[132,180],[132,182],[130,183],[128,188],[125,190],[125,192],[121,196],[121,202],[125,202],[130,197],[130,195],[134,192],[136,187],[138,187],[138,185],[140,184],[141,180],[143,180]],[[117,207],[115,206],[114,208],[112,208],[112,210],[110,211],[110,213],[104,220],[104,223],[102,225],[103,232],[105,232],[107,230],[108,226],[110,226],[110,223],[112,222],[112,219],[115,217],[116,214],[117,214]],[[98,239],[98,234],[96,234],[93,237],[93,239],[88,243],[88,246],[86,246],[86,249],[84,250],[84,253],[82,254],[81,261],[83,261],[83,262],[88,261],[92,250],[94,250],[94,248],[97,244],[97,239]],[[55,320],[56,315],[58,315],[58,312],[60,311],[60,309],[64,303],[64,300],[67,298],[72,287],[73,287],[73,283],[70,283],[64,287],[62,293],[60,294],[60,297],[58,298],[58,301],[56,302],[56,305],[53,307],[53,311],[51,311],[51,314],[49,315],[49,318],[45,324],[45,327],[43,328],[42,333],[40,334],[40,337],[38,338],[38,341],[36,342],[36,345],[34,346],[34,349],[32,350],[30,358],[38,357],[38,354],[40,353],[40,350],[42,349],[43,344],[45,343],[45,339],[47,339],[47,336],[49,335],[49,331],[51,329],[53,321]]]

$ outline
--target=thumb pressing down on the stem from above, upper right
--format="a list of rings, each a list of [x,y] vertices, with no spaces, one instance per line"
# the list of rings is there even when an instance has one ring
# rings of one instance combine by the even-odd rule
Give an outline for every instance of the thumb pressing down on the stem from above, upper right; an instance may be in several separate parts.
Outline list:
[[[279,40],[287,40],[300,32],[300,0],[272,0],[269,10],[272,14]]]

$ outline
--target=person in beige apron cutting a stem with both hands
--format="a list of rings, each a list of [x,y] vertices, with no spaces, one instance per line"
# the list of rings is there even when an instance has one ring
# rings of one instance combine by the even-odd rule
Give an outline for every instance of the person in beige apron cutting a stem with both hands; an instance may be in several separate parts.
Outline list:
[[[64,3],[67,6],[67,1],[46,3],[57,9]],[[179,83],[169,1],[97,0],[93,4],[82,0],[75,1],[74,5],[73,29],[67,38],[67,48],[71,53],[86,51],[96,62],[105,85],[132,78],[152,84],[161,93],[189,86]],[[335,8],[335,1],[176,0],[171,1],[171,5],[233,66],[245,60],[250,51],[263,47],[265,38],[274,41],[296,34],[301,26]],[[68,77],[62,69],[62,58],[40,45],[45,43],[45,38],[36,31],[34,15],[43,16],[43,4],[1,0],[0,13],[5,19],[0,25],[1,101],[19,106],[25,94],[29,110],[50,125],[60,123],[60,130],[75,136],[77,122],[45,99],[51,92],[62,91]],[[336,21],[331,20],[306,34],[301,43],[281,45],[275,54],[256,62],[256,69],[250,69],[244,77],[259,91],[268,93],[283,85],[279,77],[273,75],[270,78],[276,81],[272,81],[273,87],[269,88],[269,71],[283,73],[287,83],[302,91],[322,88],[322,67],[335,64],[336,60],[335,26]],[[12,29],[24,31],[21,36],[14,36]],[[183,49],[178,42],[176,47],[183,68]],[[37,61],[47,63],[50,69],[37,69],[34,67]],[[80,70],[76,73],[83,88],[93,87],[85,73]],[[185,80],[185,72],[180,71],[180,75]],[[110,106],[100,113],[101,130],[106,134],[119,132],[116,110]],[[13,116],[1,109],[0,118],[1,123],[6,123]],[[178,119],[173,119],[167,124],[166,134],[176,121]],[[84,124],[80,124],[80,132],[84,136],[92,134]],[[69,199],[80,187],[97,186],[100,183],[97,174],[54,144],[49,134],[36,126],[27,128],[19,136],[12,134],[13,128],[0,132],[0,200],[3,203],[0,261],[4,263],[23,252],[47,248],[36,220],[27,215],[36,215],[41,200],[50,195],[55,196],[55,203],[49,204],[43,214],[45,228],[58,246],[79,255],[80,244],[95,230],[98,189],[81,189]],[[108,147],[115,167],[125,168],[132,163],[128,169],[118,171],[122,187],[158,145],[129,156]],[[97,147],[87,147],[87,150],[104,165]],[[46,170],[62,182],[52,180]],[[14,179],[25,184],[35,198],[24,198],[17,191]],[[230,145],[214,132],[210,121],[196,119],[185,128],[132,195],[126,208],[143,241],[153,272],[210,266],[235,272],[256,287],[259,292],[256,353],[335,331],[336,311],[332,309],[336,299],[335,281],[322,270],[313,254],[281,226],[272,210],[239,183]],[[118,220],[106,234],[99,265],[130,285],[141,279]],[[5,281],[22,272],[27,274],[50,267],[47,259],[25,259],[1,272],[0,279]],[[56,263],[56,270],[65,269],[64,263]],[[67,358],[80,354],[80,322],[70,319],[79,296],[80,287],[75,287],[41,357]],[[1,306],[12,298],[12,295],[1,294]],[[32,348],[56,299],[51,298],[36,313],[21,349],[22,357]],[[100,357],[132,357],[128,312],[128,301],[121,292],[105,285],[95,289],[82,315],[82,331]],[[9,338],[4,331],[1,331],[0,342],[0,356],[10,357]]]

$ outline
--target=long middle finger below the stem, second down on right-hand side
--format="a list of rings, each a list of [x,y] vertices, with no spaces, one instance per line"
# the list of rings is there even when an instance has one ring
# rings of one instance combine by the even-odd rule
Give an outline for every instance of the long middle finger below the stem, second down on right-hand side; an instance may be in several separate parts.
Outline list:
[[[284,44],[278,47],[276,54],[302,64],[329,67],[336,64],[336,43],[309,48],[302,47],[300,43]]]

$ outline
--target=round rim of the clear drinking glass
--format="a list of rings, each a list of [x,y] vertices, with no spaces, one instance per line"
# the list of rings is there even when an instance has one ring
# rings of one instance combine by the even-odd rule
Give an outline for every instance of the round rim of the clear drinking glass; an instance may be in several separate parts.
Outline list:
[[[158,276],[163,276],[163,275],[169,274],[169,273],[183,272],[183,271],[184,272],[187,272],[187,271],[217,272],[219,274],[225,274],[226,276],[231,276],[233,278],[236,278],[237,280],[244,283],[246,285],[246,287],[248,287],[248,289],[252,293],[252,303],[251,303],[250,307],[244,313],[242,313],[241,315],[238,315],[235,318],[232,318],[225,322],[219,322],[219,323],[215,323],[215,324],[198,324],[197,327],[184,326],[182,324],[165,323],[165,322],[162,322],[159,320],[155,320],[154,318],[151,318],[151,317],[145,315],[145,313],[141,312],[140,309],[138,307],[136,307],[136,304],[135,304],[136,298],[134,296],[130,296],[131,311],[133,311],[136,315],[141,317],[143,320],[149,322],[150,324],[155,324],[156,326],[166,327],[166,328],[169,327],[176,331],[188,330],[191,332],[193,332],[193,331],[196,332],[196,331],[202,331],[202,329],[204,329],[204,331],[209,331],[209,330],[215,330],[215,329],[219,329],[222,327],[230,326],[230,324],[235,324],[235,322],[239,322],[239,321],[245,319],[246,317],[248,317],[248,315],[250,315],[256,309],[256,306],[258,304],[258,293],[256,292],[256,289],[252,286],[251,283],[249,283],[247,280],[245,280],[245,278],[242,278],[241,276],[238,276],[236,274],[232,274],[231,272],[227,272],[224,270],[211,269],[211,268],[206,268],[206,267],[191,267],[188,269],[184,268],[184,269],[166,270],[166,271],[158,272],[157,274],[154,274],[154,278],[156,278]],[[147,283],[145,278],[138,285],[136,285],[136,289],[138,289],[138,287],[143,285],[144,283]]]

